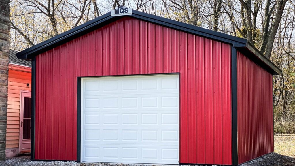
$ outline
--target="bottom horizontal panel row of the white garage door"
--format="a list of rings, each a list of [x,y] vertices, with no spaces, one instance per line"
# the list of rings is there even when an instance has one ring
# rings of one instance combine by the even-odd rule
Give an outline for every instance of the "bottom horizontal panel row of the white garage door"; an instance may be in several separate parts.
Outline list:
[[[114,145],[114,144],[87,144],[84,149],[88,151],[83,158],[88,162],[116,162],[120,160],[126,163],[144,163],[165,164],[167,162],[178,162],[177,146],[144,146],[144,145]]]

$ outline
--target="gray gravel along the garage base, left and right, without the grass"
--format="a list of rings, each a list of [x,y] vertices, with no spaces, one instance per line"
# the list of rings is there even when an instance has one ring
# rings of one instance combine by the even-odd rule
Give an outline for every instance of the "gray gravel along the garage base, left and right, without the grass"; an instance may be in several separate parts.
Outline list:
[[[29,156],[7,158],[0,162],[0,166],[145,166],[135,164],[109,164],[109,163],[78,163],[78,162],[37,162],[31,161]],[[295,166],[295,158],[271,153],[257,160],[242,164],[241,166]]]

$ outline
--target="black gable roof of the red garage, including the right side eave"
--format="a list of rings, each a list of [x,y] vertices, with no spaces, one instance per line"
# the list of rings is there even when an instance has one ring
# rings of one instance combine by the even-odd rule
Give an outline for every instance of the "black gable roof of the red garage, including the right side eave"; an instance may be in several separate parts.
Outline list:
[[[234,48],[236,48],[237,50],[240,50],[242,53],[244,53],[249,58],[253,59],[256,63],[260,64],[260,66],[267,69],[272,74],[275,74],[275,75],[282,74],[281,69],[279,69],[270,60],[268,60],[265,56],[263,56],[262,53],[260,53],[252,45],[250,45],[246,39],[208,30],[208,29],[197,27],[194,25],[189,25],[183,22],[178,22],[175,20],[155,16],[152,14],[147,14],[147,13],[140,12],[133,9],[132,9],[131,15],[123,15],[123,16],[112,16],[111,12],[108,12],[89,22],[79,25],[71,30],[61,33],[60,35],[57,35],[53,38],[45,40],[37,45],[34,45],[30,48],[27,48],[17,53],[17,58],[31,61],[34,58],[34,56],[40,53],[43,53],[47,50],[50,50],[51,48],[54,48],[58,45],[61,45],[70,40],[73,40],[99,27],[102,27],[118,19],[121,19],[122,17],[132,17],[132,18],[144,20],[146,22],[151,22],[157,25],[161,25],[164,27],[169,27],[169,28],[180,30],[190,34],[194,34],[194,35],[202,36],[205,38],[217,40],[223,43],[231,44],[233,45]]]

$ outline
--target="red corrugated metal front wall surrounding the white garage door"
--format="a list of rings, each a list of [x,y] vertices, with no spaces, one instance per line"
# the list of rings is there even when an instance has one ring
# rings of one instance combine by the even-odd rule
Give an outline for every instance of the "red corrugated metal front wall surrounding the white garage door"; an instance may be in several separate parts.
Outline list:
[[[231,164],[231,47],[125,17],[36,57],[35,158],[76,160],[77,77],[180,73],[180,162]]]

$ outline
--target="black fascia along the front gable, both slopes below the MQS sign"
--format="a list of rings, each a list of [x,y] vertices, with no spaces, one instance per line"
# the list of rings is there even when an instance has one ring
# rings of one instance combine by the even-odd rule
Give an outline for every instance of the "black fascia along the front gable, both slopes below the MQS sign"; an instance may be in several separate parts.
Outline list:
[[[72,40],[74,38],[78,38],[81,35],[84,35],[88,32],[91,32],[95,30],[96,28],[102,27],[110,22],[113,22],[115,20],[118,20],[122,17],[126,16],[111,16],[111,12],[108,12],[100,17],[97,17],[89,22],[86,22],[82,25],[79,25],[71,30],[68,30],[66,32],[61,33],[60,35],[56,35],[53,38],[50,38],[48,40],[45,40],[37,45],[34,45],[30,48],[27,48],[19,53],[17,53],[17,58],[19,59],[26,59],[26,60],[32,60],[32,58],[35,55],[38,55],[42,52],[45,52],[47,50],[50,50],[51,48],[61,45],[69,40]],[[213,40],[221,41],[223,43],[229,43],[229,44],[240,44],[240,45],[246,45],[247,40],[238,38],[232,35],[227,35],[224,33],[207,30],[205,28],[196,27],[194,25],[189,25],[186,23],[174,21],[171,19],[155,16],[152,14],[147,14],[144,12],[139,12],[137,10],[132,9],[132,14],[127,15],[127,17],[133,17],[137,19],[141,19],[147,22],[152,22],[158,25],[162,25],[165,27],[170,27],[172,29],[188,32],[191,34],[199,35],[202,37],[210,38]]]

